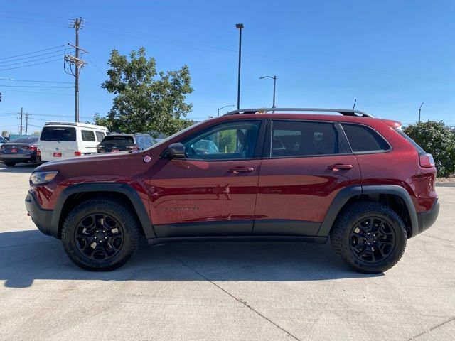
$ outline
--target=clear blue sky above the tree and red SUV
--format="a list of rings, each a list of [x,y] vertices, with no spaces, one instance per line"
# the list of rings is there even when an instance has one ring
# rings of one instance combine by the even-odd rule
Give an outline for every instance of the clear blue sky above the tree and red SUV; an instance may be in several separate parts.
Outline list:
[[[1,130],[18,132],[21,107],[31,114],[28,133],[46,120],[74,120],[63,45],[75,43],[68,27],[75,17],[86,21],[80,47],[89,52],[82,55],[81,121],[112,107],[101,84],[114,48],[128,54],[144,46],[158,70],[188,65],[190,119],[236,104],[235,23],[243,23],[240,107],[272,107],[273,81],[259,77],[277,75],[277,107],[350,109],[357,99],[355,109],[412,124],[424,102],[422,121],[455,126],[453,0],[80,0],[1,2]],[[220,112],[228,109],[235,107]]]

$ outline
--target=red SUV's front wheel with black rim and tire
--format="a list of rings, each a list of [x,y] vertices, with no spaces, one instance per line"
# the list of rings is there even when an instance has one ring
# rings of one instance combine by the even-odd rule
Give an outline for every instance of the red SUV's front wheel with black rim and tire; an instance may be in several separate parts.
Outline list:
[[[110,271],[125,264],[137,251],[140,237],[132,210],[102,197],[73,208],[62,228],[66,254],[74,264],[90,271]]]

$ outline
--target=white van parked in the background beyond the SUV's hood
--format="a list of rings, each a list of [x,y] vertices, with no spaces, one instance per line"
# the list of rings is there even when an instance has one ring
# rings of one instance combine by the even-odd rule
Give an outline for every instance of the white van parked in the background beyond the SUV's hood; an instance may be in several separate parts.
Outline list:
[[[75,122],[46,122],[37,144],[41,161],[74,158],[97,152],[109,131],[105,126]]]

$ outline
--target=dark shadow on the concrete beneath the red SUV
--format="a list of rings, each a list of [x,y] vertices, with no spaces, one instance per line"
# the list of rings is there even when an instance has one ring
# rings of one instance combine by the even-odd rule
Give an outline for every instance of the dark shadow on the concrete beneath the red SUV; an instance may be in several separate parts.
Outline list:
[[[35,280],[323,281],[375,277],[349,269],[328,245],[300,242],[193,242],[141,245],[120,269],[85,271],[58,239],[38,230],[0,233],[0,281],[26,288]]]

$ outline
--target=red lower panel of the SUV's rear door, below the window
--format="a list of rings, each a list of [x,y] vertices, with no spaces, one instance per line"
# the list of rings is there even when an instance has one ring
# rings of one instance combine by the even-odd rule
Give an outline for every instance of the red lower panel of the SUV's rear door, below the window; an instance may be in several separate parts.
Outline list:
[[[353,168],[327,168],[336,163]],[[336,194],[359,179],[353,155],[262,160],[254,234],[316,235]]]

